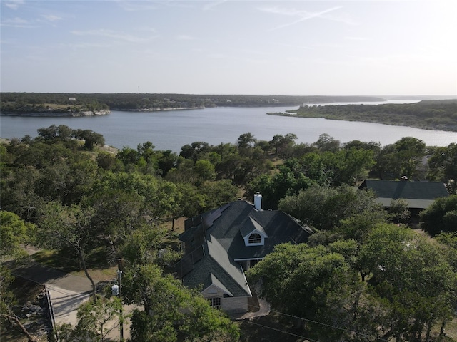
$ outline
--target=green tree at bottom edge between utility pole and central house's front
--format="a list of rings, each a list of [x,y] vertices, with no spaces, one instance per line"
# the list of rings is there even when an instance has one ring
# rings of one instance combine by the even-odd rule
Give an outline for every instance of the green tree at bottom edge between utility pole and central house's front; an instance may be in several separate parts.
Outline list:
[[[131,341],[238,341],[238,326],[196,292],[154,264],[135,266],[129,276],[136,292],[131,300],[144,305],[131,317]]]

